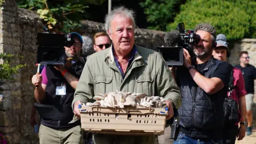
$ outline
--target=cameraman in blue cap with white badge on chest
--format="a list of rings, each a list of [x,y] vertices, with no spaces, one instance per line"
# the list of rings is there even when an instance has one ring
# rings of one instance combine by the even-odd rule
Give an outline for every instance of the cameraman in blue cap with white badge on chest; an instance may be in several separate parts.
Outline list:
[[[40,143],[83,143],[81,122],[68,124],[73,119],[71,102],[81,76],[85,60],[81,57],[83,38],[78,33],[70,33],[72,44],[65,46],[67,65],[46,66],[41,74],[32,78],[35,99],[45,113],[41,113],[39,128]],[[43,107],[44,106],[44,107]],[[51,109],[47,106],[53,106]]]

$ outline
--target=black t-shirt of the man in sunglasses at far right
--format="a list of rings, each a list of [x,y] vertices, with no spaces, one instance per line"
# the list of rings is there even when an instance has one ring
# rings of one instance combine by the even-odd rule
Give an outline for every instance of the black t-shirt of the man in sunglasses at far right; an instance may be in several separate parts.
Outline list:
[[[254,94],[254,79],[256,79],[256,68],[250,64],[244,68],[241,67],[241,65],[236,65],[235,67],[242,71],[246,92]]]

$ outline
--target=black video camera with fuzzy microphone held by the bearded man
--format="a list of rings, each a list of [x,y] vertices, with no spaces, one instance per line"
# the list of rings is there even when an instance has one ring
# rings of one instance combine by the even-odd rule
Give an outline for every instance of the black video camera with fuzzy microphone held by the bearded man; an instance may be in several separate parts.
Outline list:
[[[169,67],[183,65],[183,48],[194,57],[193,45],[200,41],[200,36],[194,30],[185,30],[184,23],[178,23],[177,30],[172,30],[164,36],[167,46],[157,46],[156,51],[162,53]]]

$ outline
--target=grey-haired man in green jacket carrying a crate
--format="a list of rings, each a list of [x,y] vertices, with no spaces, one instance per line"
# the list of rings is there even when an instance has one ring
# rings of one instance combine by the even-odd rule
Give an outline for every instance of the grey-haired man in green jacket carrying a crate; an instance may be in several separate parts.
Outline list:
[[[180,107],[179,88],[161,54],[134,44],[133,15],[133,11],[117,7],[106,16],[105,26],[113,44],[87,59],[72,104],[77,117],[82,102],[115,90],[164,97],[169,108],[166,119]],[[93,143],[154,143],[153,136],[113,136],[93,134]]]

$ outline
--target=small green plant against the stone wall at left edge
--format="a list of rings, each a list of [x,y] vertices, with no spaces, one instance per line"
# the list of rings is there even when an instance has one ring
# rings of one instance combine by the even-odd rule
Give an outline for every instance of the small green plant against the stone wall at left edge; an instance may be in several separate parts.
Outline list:
[[[17,56],[16,56],[17,57]],[[21,56],[19,56],[22,58]],[[11,79],[14,80],[13,75],[19,73],[19,69],[25,67],[25,65],[10,66],[10,61],[14,58],[13,54],[0,53],[0,59],[3,59],[3,64],[0,63],[0,80]]]

